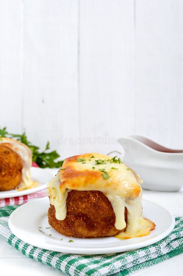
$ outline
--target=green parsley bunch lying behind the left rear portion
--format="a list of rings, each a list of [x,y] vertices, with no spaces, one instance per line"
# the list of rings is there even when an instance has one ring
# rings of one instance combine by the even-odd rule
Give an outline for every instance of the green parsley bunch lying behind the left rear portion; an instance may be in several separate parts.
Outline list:
[[[57,151],[47,152],[47,150],[50,149],[49,142],[47,142],[45,150],[40,152],[38,146],[33,145],[30,141],[27,140],[27,135],[25,132],[23,134],[13,134],[7,132],[5,127],[0,128],[0,137],[13,138],[27,145],[32,153],[32,161],[35,162],[40,168],[60,168],[64,163],[64,160],[57,162],[55,161],[58,157],[60,157]]]

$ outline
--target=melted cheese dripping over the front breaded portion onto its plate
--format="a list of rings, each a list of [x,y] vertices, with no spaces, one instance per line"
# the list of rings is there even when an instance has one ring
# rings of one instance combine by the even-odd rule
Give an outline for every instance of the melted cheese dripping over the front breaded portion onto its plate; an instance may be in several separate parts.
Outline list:
[[[94,158],[91,158],[91,156]],[[85,161],[77,162],[78,158]],[[127,208],[127,228],[125,232],[118,234],[118,238],[131,238],[144,236],[150,233],[154,224],[150,220],[141,217],[142,214],[142,180],[139,176],[123,163],[107,161],[112,157],[98,153],[72,156],[64,160],[62,169],[48,183],[47,194],[50,203],[55,206],[55,216],[58,220],[64,220],[67,214],[66,200],[71,190],[88,191],[97,190],[103,192],[111,202],[115,213],[115,228],[124,229],[125,207]],[[95,160],[102,159],[105,164],[96,164]],[[95,167],[93,169],[92,167]],[[112,169],[114,167],[115,169]],[[105,179],[105,169],[109,178]]]

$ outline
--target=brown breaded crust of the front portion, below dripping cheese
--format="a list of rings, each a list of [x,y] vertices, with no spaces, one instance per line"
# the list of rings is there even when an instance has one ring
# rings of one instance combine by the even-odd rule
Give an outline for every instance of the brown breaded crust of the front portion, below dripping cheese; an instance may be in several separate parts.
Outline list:
[[[126,230],[115,228],[115,213],[108,198],[100,191],[71,190],[67,197],[67,216],[57,220],[50,204],[49,224],[65,236],[78,238],[114,236]],[[125,222],[127,209],[125,207]]]

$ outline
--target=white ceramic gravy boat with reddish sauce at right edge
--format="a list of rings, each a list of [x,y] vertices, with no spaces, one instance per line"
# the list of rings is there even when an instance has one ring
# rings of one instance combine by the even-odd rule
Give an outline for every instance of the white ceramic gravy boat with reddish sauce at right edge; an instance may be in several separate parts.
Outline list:
[[[183,150],[165,148],[138,135],[119,138],[125,150],[124,163],[143,179],[142,187],[178,191],[183,186]]]

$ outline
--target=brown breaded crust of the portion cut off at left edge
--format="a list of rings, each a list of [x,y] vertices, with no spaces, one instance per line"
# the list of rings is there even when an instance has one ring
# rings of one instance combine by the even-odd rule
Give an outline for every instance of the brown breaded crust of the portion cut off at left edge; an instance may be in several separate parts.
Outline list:
[[[21,158],[9,145],[0,144],[0,191],[15,189],[22,177]]]

